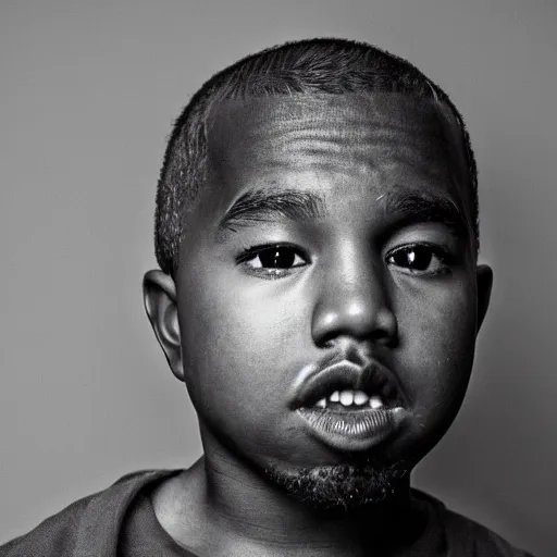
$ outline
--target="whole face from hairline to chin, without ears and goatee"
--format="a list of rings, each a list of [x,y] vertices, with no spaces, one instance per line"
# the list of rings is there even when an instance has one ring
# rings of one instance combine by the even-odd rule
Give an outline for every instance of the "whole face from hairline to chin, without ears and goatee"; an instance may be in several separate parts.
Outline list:
[[[213,111],[175,275],[208,458],[388,468],[443,436],[479,320],[459,137],[442,108],[394,94]]]

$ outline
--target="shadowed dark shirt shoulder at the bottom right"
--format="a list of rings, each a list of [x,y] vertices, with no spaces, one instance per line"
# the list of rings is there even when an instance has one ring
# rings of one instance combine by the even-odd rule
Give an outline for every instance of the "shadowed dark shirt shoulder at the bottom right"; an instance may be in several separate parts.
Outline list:
[[[515,547],[488,528],[455,512],[431,495],[414,492],[435,509],[438,522],[445,532],[450,557],[533,557]]]

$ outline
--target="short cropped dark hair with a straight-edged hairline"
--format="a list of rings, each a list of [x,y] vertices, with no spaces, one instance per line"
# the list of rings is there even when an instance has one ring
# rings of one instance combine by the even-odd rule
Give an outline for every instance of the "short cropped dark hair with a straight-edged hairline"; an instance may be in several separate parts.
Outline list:
[[[294,94],[404,92],[445,103],[462,135],[479,249],[478,171],[465,122],[447,94],[408,61],[345,39],[309,39],[262,50],[213,75],[174,123],[157,187],[154,250],[168,274],[177,268],[186,213],[207,175],[211,108],[228,99]]]

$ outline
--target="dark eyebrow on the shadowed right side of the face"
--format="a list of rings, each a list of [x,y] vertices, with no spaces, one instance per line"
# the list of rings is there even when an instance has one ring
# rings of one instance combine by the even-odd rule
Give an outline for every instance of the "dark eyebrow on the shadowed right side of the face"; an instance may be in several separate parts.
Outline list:
[[[420,224],[436,222],[447,226],[459,238],[470,235],[470,223],[459,206],[448,196],[430,191],[404,191],[395,188],[383,199],[385,212],[394,215],[398,224]]]

